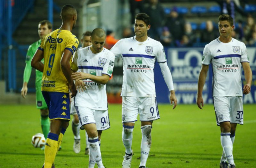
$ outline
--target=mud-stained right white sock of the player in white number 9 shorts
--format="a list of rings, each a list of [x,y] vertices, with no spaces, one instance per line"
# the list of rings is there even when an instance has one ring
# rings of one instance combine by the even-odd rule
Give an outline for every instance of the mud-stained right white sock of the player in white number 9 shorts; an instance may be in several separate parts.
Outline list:
[[[142,133],[141,145],[140,145],[140,166],[146,166],[146,162],[151,147],[151,125],[145,125],[140,127]],[[139,167],[140,167],[139,166]]]

